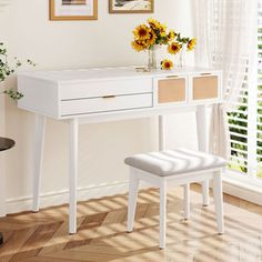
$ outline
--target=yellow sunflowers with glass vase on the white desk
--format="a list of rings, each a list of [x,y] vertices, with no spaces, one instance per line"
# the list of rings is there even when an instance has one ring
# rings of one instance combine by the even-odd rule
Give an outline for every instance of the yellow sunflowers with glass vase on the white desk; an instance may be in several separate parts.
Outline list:
[[[194,49],[195,39],[182,38],[181,33],[177,33],[174,30],[168,30],[164,23],[159,22],[155,19],[148,19],[147,23],[138,26],[133,30],[132,48],[140,52],[149,50],[149,56],[154,54],[152,51],[155,46],[168,46],[167,51],[170,54],[178,54],[187,46],[187,50]],[[148,69],[157,69],[158,63],[154,58],[149,58]],[[161,62],[162,69],[172,69],[173,62],[169,59],[164,59]]]

